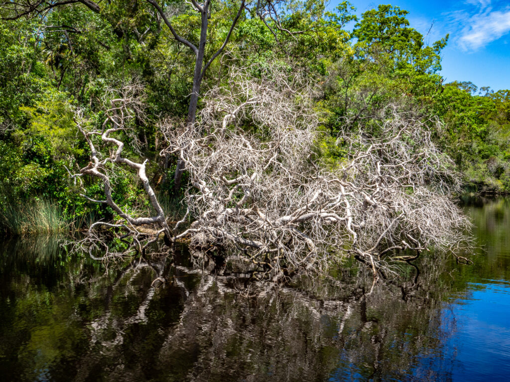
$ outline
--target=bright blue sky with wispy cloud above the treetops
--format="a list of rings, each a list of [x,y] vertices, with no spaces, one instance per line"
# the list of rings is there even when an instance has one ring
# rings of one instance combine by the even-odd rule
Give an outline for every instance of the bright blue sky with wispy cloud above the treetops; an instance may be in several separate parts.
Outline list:
[[[341,0],[332,0],[336,7]],[[445,82],[471,81],[497,91],[510,89],[510,0],[351,0],[356,14],[391,4],[409,11],[412,28],[425,43],[450,34],[443,50]],[[430,28],[432,26],[432,28]]]

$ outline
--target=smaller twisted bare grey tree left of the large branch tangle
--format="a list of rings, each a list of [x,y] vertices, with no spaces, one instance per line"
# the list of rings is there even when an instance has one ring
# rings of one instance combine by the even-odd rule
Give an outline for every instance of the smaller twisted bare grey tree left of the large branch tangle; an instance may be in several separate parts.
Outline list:
[[[91,199],[86,195],[82,195],[87,200],[106,204],[110,206],[113,211],[121,219],[117,223],[97,222],[92,224],[88,229],[87,237],[80,243],[82,246],[85,245],[92,255],[94,249],[105,250],[105,257],[108,256],[123,256],[125,253],[115,253],[109,251],[108,244],[105,240],[102,240],[97,230],[101,227],[108,227],[122,231],[123,234],[119,234],[118,237],[125,240],[130,238],[131,242],[125,241],[128,245],[127,251],[137,251],[144,253],[146,248],[154,241],[156,241],[160,235],[170,237],[170,229],[165,219],[165,214],[161,205],[159,204],[154,189],[149,184],[145,168],[148,159],[143,160],[141,163],[126,158],[122,154],[124,143],[121,141],[119,134],[130,137],[130,141],[134,142],[135,150],[136,147],[136,136],[130,127],[130,124],[136,118],[143,119],[144,116],[144,105],[142,100],[139,98],[140,85],[130,85],[122,88],[120,91],[110,91],[105,99],[105,115],[106,118],[101,125],[101,129],[89,129],[87,127],[87,121],[84,118],[81,111],[77,113],[77,124],[78,129],[83,134],[89,149],[90,149],[90,161],[87,166],[80,170],[79,174],[74,177],[83,177],[84,175],[90,175],[92,177],[100,179],[103,184],[105,193],[105,200]],[[118,97],[115,97],[118,95]],[[99,142],[95,137],[99,137]],[[97,147],[105,148],[109,151],[109,155],[103,155]],[[123,167],[131,169],[136,172],[138,179],[140,180],[147,198],[150,202],[152,209],[156,212],[154,216],[133,216],[127,211],[123,210],[115,201],[112,195],[112,176],[115,174],[116,167]],[[150,229],[144,228],[149,226]]]

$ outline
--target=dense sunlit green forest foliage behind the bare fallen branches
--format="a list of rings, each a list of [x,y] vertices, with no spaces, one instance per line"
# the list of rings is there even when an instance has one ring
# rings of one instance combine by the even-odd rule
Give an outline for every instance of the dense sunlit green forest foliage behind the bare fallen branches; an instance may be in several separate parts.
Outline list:
[[[147,2],[119,0],[100,9],[86,3],[20,17],[11,3],[0,10],[0,225],[6,230],[22,230],[6,222],[41,200],[58,205],[70,221],[85,222],[91,213],[114,216],[109,207],[79,196],[100,199],[97,180],[84,178],[81,188],[70,178],[89,160],[75,111],[80,108],[100,126],[111,90],[126,84],[140,85],[144,113],[131,122],[136,134],[125,137],[124,154],[148,158],[147,175],[157,192],[167,199],[174,194],[176,158],[159,155],[163,137],[156,126],[162,118],[186,119],[195,57]],[[191,6],[163,5],[177,33],[197,44],[200,19]],[[206,60],[225,40],[238,9],[236,2],[212,3]],[[407,12],[391,5],[359,20],[348,2],[331,12],[321,0],[287,1],[273,11],[277,17],[268,23],[247,5],[225,49],[205,71],[202,93],[225,81],[235,65],[251,65],[254,76],[275,63],[289,75],[298,69],[320,88],[315,108],[323,134],[317,150],[324,162],[335,166],[345,159],[337,140],[345,126],[398,102],[424,121],[437,116],[443,122],[443,129],[430,128],[463,173],[466,190],[510,191],[510,91],[443,84],[440,53],[448,36],[425,45]],[[370,129],[370,123],[363,126]],[[130,173],[117,176],[113,186],[119,205],[149,208]]]

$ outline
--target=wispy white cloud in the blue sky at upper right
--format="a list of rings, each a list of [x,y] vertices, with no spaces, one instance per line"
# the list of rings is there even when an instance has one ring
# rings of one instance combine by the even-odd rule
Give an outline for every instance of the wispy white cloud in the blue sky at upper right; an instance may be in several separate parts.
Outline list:
[[[510,9],[493,11],[486,8],[463,20],[467,23],[458,39],[464,50],[476,50],[510,32]]]

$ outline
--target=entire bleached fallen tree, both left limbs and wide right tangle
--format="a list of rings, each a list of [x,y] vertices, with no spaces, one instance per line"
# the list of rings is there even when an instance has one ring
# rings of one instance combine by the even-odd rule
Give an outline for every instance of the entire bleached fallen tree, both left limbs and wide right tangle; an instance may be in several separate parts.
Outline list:
[[[430,248],[458,250],[469,223],[451,199],[458,174],[431,139],[431,125],[439,129],[439,122],[399,105],[346,120],[337,141],[344,155],[328,165],[318,150],[314,94],[283,71],[252,78],[238,70],[205,96],[194,124],[162,122],[168,146],[161,155],[176,155],[189,174],[187,212],[172,226],[148,183],[146,160],[122,157],[123,143],[113,138],[129,129],[137,103],[113,99],[101,130],[80,127],[92,160],[79,175],[101,179],[106,200],[92,201],[108,204],[121,221],[93,224],[81,243],[91,253],[103,248],[122,255],[108,252],[99,227],[122,232],[128,251],[144,252],[162,235],[167,245],[189,238],[192,249],[233,250],[274,270],[324,271],[354,255],[374,277],[391,272],[387,260],[397,250],[415,251],[403,260]],[[99,159],[93,136],[109,157]],[[107,163],[138,173],[155,216],[131,216],[113,202]]]

